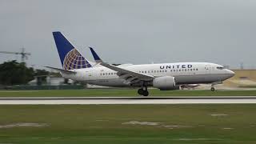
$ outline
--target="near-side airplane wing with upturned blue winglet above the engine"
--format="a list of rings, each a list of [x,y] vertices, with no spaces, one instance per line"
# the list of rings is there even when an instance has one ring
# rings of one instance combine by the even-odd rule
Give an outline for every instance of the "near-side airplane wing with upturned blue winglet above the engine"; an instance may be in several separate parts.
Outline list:
[[[97,62],[100,65],[105,66],[111,70],[117,71],[118,76],[120,78],[124,78],[127,83],[133,84],[133,83],[137,83],[137,82],[141,82],[141,81],[150,81],[154,78],[154,76],[152,76],[152,75],[140,74],[140,73],[137,73],[137,72],[134,72],[131,70],[126,70],[120,66],[113,66],[106,62],[103,62],[102,59],[98,57],[98,54],[96,54],[94,49],[91,47],[89,47],[89,48],[90,48],[91,53],[94,56],[95,62]]]

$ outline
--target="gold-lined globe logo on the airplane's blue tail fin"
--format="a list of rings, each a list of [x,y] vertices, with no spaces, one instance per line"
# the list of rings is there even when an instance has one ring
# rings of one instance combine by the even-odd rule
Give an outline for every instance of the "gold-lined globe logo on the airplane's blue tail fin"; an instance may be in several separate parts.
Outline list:
[[[83,69],[91,67],[90,63],[78,52],[78,50],[70,50],[64,58],[63,68],[64,70]]]

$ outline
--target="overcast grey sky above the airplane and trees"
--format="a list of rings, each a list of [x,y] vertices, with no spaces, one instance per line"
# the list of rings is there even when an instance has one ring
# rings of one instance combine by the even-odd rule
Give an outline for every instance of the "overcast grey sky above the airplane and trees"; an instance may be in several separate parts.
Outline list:
[[[255,15],[255,0],[0,0],[0,50],[24,47],[28,66],[61,67],[52,36],[61,31],[91,61],[88,46],[109,63],[256,69]]]

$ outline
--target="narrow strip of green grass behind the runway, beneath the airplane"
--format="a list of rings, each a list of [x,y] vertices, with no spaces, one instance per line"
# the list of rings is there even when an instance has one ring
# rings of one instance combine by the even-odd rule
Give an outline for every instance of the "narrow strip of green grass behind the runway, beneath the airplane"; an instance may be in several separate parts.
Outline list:
[[[169,90],[152,89],[150,96],[256,96],[256,90]],[[0,97],[96,97],[138,96],[136,89],[87,90],[0,90]]]

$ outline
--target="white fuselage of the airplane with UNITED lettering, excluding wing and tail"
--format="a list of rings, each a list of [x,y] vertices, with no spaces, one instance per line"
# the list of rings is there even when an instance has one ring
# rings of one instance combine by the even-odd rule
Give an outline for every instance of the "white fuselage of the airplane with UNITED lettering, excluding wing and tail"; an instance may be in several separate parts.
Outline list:
[[[234,76],[234,72],[218,64],[208,62],[178,62],[143,65],[118,66],[122,69],[134,71],[154,77],[173,76],[176,85],[222,82]],[[104,66],[72,70],[76,74],[62,74],[79,82],[86,82],[98,86],[130,86],[117,72]]]

